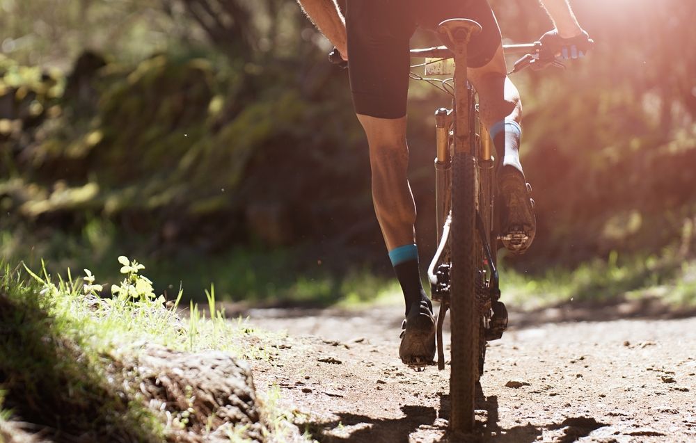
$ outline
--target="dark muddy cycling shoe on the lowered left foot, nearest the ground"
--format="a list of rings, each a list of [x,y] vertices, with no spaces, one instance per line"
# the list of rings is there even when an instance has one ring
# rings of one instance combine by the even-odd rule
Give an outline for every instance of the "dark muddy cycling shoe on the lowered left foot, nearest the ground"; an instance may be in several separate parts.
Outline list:
[[[410,367],[423,368],[435,358],[435,317],[427,303],[413,303],[402,324],[399,357]]]

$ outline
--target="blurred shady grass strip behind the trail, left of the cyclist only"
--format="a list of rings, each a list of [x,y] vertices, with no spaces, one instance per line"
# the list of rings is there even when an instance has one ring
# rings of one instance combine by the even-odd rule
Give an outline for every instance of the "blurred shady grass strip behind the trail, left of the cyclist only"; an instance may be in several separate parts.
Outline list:
[[[24,261],[40,268],[45,257],[50,273],[67,268],[90,268],[106,286],[118,282],[112,257],[143,252],[151,243],[145,236],[128,234],[102,218],[90,218],[80,232],[33,232],[31,227],[0,229],[0,259]],[[148,255],[155,291],[173,297],[186,288],[184,302],[205,303],[205,291],[214,282],[216,298],[255,305],[312,305],[343,307],[398,300],[400,289],[393,274],[375,274],[356,264],[346,271],[326,269],[307,259],[306,246],[269,250],[259,245],[230,247],[216,254],[179,246],[171,253]],[[108,292],[108,291],[107,291]],[[395,297],[396,294],[396,297]]]

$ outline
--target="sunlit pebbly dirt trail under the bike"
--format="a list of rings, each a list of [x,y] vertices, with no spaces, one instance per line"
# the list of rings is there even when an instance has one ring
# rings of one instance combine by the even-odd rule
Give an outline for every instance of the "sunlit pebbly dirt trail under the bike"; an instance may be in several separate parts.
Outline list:
[[[603,312],[511,314],[489,344],[477,441],[696,442],[696,317],[586,320]],[[400,308],[247,314],[289,332],[271,360],[252,362],[255,382],[278,385],[317,440],[461,440],[446,432],[449,367],[416,373],[397,358]]]

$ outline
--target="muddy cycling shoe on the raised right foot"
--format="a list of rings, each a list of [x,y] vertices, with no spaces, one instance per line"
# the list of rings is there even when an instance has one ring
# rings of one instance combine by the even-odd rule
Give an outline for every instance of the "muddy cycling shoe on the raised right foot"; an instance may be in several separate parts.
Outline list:
[[[532,187],[524,175],[511,166],[498,175],[500,190],[500,239],[507,250],[523,254],[532,244],[537,231]]]

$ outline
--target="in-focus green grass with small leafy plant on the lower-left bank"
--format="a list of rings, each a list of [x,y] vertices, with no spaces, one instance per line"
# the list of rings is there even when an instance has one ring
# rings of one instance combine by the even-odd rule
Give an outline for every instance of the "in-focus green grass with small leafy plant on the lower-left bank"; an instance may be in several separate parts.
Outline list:
[[[125,257],[119,261],[122,280],[110,288],[113,297],[102,300],[95,293],[104,285],[91,271],[81,278],[68,271],[54,280],[45,271],[3,266],[0,325],[10,333],[0,337],[0,388],[12,417],[75,435],[163,441],[171,435],[164,412],[145,408],[139,380],[118,370],[121,356],[147,343],[264,359],[264,349],[280,339],[249,328],[242,319],[228,321],[216,309],[214,287],[207,291],[210,314],[191,303],[188,318],[182,319],[177,316],[181,291],[165,308],[164,297],[156,296],[152,282],[141,275],[143,265]],[[281,422],[288,416],[276,403],[264,405],[262,414],[272,418],[270,433],[287,426]],[[172,426],[187,425],[185,411],[173,415]],[[9,418],[10,412],[0,417]],[[244,428],[230,427],[229,435],[241,441]],[[283,441],[282,435],[277,440]]]

